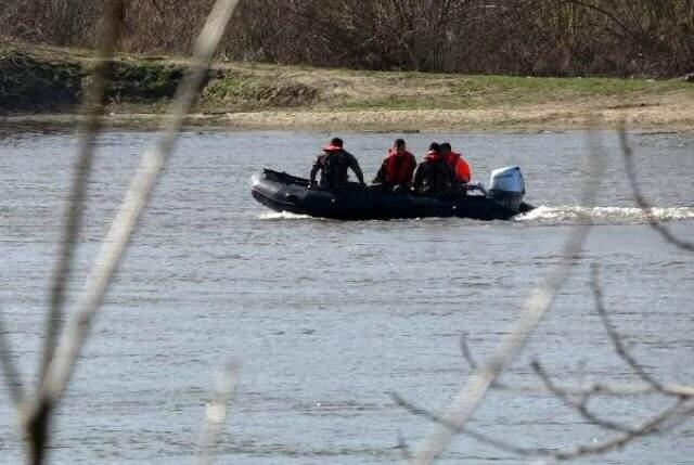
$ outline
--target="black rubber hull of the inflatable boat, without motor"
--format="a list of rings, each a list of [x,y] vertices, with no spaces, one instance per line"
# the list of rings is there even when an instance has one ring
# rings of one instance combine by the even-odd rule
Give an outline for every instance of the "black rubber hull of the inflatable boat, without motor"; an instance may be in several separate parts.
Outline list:
[[[252,194],[274,211],[288,211],[336,220],[388,220],[397,218],[459,217],[507,220],[534,209],[523,203],[518,211],[484,195],[438,199],[409,194],[375,193],[358,189],[329,192],[307,189],[308,180],[270,169],[254,179]]]

